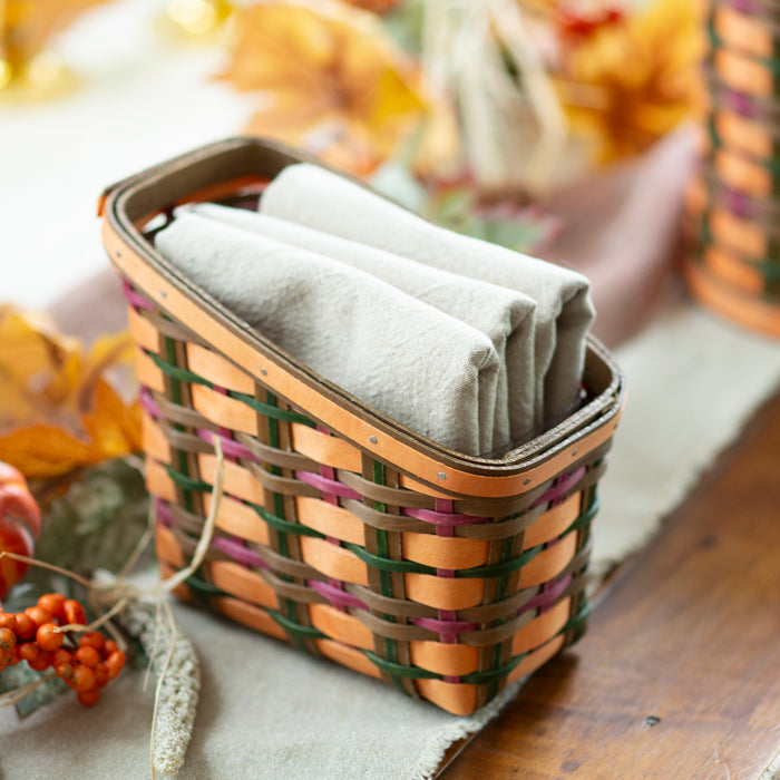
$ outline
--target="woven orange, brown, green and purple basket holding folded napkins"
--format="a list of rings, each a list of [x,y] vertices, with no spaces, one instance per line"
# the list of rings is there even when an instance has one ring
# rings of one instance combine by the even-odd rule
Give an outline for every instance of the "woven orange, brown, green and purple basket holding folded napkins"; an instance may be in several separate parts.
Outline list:
[[[621,378],[591,342],[576,413],[501,459],[461,456],[296,362],[154,250],[176,205],[256,202],[302,159],[231,139],[101,199],[138,348],[162,575],[193,555],[220,437],[216,530],[179,595],[466,714],[583,631]]]

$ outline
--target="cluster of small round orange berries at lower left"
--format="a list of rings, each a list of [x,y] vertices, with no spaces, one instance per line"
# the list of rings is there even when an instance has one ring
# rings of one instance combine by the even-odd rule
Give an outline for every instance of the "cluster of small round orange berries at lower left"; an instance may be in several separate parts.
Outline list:
[[[79,602],[47,593],[25,612],[0,611],[0,672],[27,661],[30,669],[51,667],[78,694],[85,706],[97,704],[100,689],[121,672],[125,653],[99,632],[82,633],[78,646],[60,625],[87,624]]]

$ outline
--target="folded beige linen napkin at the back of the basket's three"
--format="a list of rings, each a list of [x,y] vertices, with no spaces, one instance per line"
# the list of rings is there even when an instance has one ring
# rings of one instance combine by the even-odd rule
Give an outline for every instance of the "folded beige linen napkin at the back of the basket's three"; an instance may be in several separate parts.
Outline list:
[[[529,295],[537,304],[534,360],[537,427],[558,422],[577,402],[585,335],[595,315],[588,281],[581,274],[437,227],[313,165],[284,168],[263,193],[260,209]]]

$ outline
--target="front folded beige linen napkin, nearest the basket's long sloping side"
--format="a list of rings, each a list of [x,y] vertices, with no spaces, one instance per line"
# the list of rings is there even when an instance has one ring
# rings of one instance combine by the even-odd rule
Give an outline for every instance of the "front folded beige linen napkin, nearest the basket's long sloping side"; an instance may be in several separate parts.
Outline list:
[[[283,350],[458,452],[493,445],[499,361],[469,325],[370,274],[194,213],[162,254]]]

